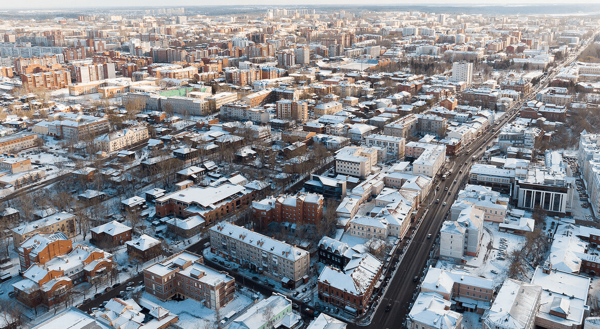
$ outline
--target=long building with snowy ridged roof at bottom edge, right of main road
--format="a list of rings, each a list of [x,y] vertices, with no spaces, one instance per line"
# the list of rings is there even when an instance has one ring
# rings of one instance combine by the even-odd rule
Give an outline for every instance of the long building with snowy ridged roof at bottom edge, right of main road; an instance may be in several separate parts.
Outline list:
[[[508,278],[482,317],[483,329],[533,329],[542,288]]]

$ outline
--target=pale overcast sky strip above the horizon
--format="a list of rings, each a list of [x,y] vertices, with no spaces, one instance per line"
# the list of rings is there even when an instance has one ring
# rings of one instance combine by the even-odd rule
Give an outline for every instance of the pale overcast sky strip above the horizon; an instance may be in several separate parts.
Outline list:
[[[575,3],[588,3],[597,4],[598,0],[575,0]],[[565,4],[565,0],[504,0],[504,1],[481,1],[481,0],[455,0],[452,2],[440,1],[440,0],[295,0],[293,2],[286,2],[281,0],[219,0],[218,2],[212,1],[166,1],[166,0],[0,0],[0,10],[23,8],[28,10],[37,10],[45,8],[86,8],[86,7],[127,7],[127,6],[139,6],[139,7],[185,7],[187,6],[202,6],[202,5],[310,5],[310,4],[338,4],[343,7],[343,4],[353,5],[376,5],[376,4],[398,4],[398,5],[428,5],[428,4],[442,4],[442,5],[459,5],[459,4],[472,4],[472,5],[523,5],[523,4]]]

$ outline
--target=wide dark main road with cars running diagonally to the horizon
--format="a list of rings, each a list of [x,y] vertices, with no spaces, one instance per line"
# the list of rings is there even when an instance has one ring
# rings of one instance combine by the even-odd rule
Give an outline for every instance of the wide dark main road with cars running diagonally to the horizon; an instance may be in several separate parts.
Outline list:
[[[551,74],[538,84],[538,87],[529,93],[524,95],[523,100],[515,102],[509,110],[506,111],[505,115],[500,117],[494,125],[490,128],[496,127],[496,129],[488,129],[484,132],[476,141],[466,147],[462,153],[457,156],[450,158],[448,169],[452,170],[445,180],[441,180],[437,186],[439,190],[432,189],[428,195],[427,200],[424,201],[428,204],[428,212],[422,222],[418,225],[413,237],[410,240],[409,245],[405,248],[401,255],[400,262],[398,262],[397,270],[395,270],[394,276],[388,283],[388,288],[384,292],[383,297],[375,303],[376,310],[371,316],[371,321],[368,324],[361,326],[358,324],[349,324],[349,328],[373,328],[373,329],[397,329],[403,328],[406,316],[409,313],[410,303],[413,301],[413,295],[416,292],[418,282],[413,281],[413,277],[418,276],[419,278],[423,275],[425,265],[430,258],[430,253],[433,250],[434,242],[436,239],[433,237],[437,236],[437,233],[442,226],[442,222],[446,219],[447,213],[450,209],[452,201],[455,198],[455,194],[460,190],[460,187],[466,183],[468,179],[469,169],[472,164],[472,157],[481,157],[482,153],[485,152],[486,146],[490,145],[491,142],[497,137],[500,132],[500,127],[505,125],[507,122],[514,120],[518,114],[518,109],[521,107],[524,101],[535,96],[535,93],[542,90],[544,87],[551,82],[554,76],[558,73],[559,69],[565,67],[566,64],[574,61],[578,54],[583,51],[585,47],[581,47],[579,51],[571,56],[568,56],[566,61],[559,64]],[[448,191],[445,191],[448,188]],[[435,200],[439,199],[439,203]],[[444,205],[444,203],[446,203]],[[428,234],[431,234],[432,238],[427,239]],[[391,309],[386,312],[385,308],[388,304],[391,304]],[[359,321],[360,322],[360,321]]]

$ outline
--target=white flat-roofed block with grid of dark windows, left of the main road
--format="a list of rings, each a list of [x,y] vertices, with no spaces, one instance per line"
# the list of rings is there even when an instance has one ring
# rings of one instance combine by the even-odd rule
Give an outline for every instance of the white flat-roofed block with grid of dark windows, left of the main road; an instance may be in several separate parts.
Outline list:
[[[335,173],[364,179],[373,173],[377,150],[368,147],[346,146],[335,154]]]

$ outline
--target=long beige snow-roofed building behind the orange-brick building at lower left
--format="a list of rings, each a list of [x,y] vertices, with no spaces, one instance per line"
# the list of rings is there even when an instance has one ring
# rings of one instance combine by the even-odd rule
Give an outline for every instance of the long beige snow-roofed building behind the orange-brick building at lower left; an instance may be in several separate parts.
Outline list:
[[[75,216],[66,212],[53,213],[52,215],[13,228],[11,234],[13,235],[14,249],[18,250],[17,248],[21,243],[37,233],[56,232],[64,233],[69,239],[75,237],[77,235]]]

